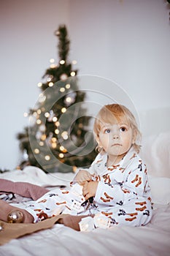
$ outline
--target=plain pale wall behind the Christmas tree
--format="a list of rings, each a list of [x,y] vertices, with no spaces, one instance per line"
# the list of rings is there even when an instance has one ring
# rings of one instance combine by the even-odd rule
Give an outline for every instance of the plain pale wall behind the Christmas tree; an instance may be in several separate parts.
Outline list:
[[[79,75],[117,82],[139,112],[170,107],[169,9],[164,0],[0,1],[0,168],[20,159],[18,140],[34,106],[49,60],[57,56],[53,32],[65,23],[70,59]],[[107,88],[98,86],[98,91]],[[109,91],[114,95],[114,91]]]

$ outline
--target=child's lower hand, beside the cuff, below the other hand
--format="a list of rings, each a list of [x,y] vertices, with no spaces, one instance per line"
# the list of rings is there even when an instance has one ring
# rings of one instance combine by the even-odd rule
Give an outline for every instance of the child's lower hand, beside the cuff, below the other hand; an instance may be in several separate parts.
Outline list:
[[[85,200],[88,200],[90,197],[95,197],[97,187],[98,181],[85,181],[82,187],[82,195],[85,197]]]

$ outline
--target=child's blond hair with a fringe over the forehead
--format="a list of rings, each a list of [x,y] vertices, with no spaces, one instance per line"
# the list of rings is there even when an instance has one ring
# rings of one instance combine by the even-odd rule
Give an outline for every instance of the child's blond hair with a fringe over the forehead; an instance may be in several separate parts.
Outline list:
[[[98,138],[102,123],[112,124],[115,119],[117,121],[120,121],[122,118],[126,118],[126,121],[128,121],[128,125],[132,129],[134,135],[134,143],[132,146],[134,147],[134,150],[139,153],[141,146],[139,146],[139,143],[137,142],[139,142],[141,139],[141,132],[139,131],[138,125],[136,123],[136,118],[134,117],[133,113],[131,113],[131,111],[123,105],[104,105],[104,107],[101,108],[95,118],[93,132],[96,138]],[[96,147],[96,150],[101,152],[104,149],[98,145]]]

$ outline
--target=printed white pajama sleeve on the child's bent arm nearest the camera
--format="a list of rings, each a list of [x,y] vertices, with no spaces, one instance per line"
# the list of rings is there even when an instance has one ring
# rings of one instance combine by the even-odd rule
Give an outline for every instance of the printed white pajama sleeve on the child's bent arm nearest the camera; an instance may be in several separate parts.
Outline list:
[[[141,163],[130,169],[121,183],[115,181],[112,184],[108,184],[102,180],[99,181],[94,200],[96,203],[106,206],[115,206],[115,204],[123,204],[136,197],[144,197],[147,189],[149,189],[147,168]]]

